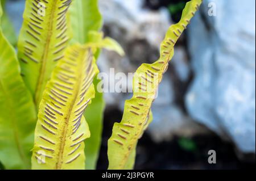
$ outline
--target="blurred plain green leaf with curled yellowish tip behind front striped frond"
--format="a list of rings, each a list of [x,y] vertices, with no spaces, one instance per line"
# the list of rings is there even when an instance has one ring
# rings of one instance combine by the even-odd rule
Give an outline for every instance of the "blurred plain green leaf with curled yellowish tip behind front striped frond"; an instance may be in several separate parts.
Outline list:
[[[123,54],[122,48],[112,39],[103,40],[103,33],[99,33],[102,26],[102,16],[98,10],[98,0],[76,0],[70,7],[72,40],[73,43],[86,44],[88,47],[97,49],[98,54],[101,48],[116,50]],[[94,87],[99,80],[94,79]],[[98,152],[101,145],[102,119],[105,109],[103,92],[96,89],[95,98],[92,104],[85,111],[85,117],[91,132],[91,137],[85,140],[86,169],[95,169],[98,159]],[[97,114],[94,113],[97,110]]]

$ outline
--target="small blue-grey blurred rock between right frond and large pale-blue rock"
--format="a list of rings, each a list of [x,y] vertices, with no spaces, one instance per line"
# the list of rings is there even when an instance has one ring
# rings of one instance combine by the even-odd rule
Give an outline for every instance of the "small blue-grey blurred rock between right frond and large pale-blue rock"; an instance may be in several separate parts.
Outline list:
[[[164,75],[160,83],[158,97],[152,105],[154,121],[148,127],[152,140],[170,141],[175,136],[191,137],[206,133],[207,130],[185,115],[175,103],[175,92],[170,76]]]

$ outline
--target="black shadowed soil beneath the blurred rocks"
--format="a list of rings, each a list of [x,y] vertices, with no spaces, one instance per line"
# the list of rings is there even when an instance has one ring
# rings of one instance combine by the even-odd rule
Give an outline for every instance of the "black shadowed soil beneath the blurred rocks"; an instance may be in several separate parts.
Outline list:
[[[109,109],[111,110],[111,109]],[[97,169],[108,168],[108,139],[112,134],[114,122],[119,122],[122,112],[106,111],[102,145]],[[216,134],[209,132],[190,139],[195,148],[189,150],[180,145],[180,137],[171,141],[155,143],[145,133],[137,146],[134,169],[251,169],[255,167],[255,155],[245,155],[249,161],[241,161],[230,142],[222,141]],[[208,151],[216,151],[216,164],[208,163]]]

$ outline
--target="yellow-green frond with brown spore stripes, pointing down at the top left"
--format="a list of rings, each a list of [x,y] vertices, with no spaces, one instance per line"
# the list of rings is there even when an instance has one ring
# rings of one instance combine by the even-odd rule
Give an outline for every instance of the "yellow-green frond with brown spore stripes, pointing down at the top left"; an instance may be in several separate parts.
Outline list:
[[[43,90],[70,38],[67,11],[72,0],[27,0],[18,40],[24,82],[39,106]]]

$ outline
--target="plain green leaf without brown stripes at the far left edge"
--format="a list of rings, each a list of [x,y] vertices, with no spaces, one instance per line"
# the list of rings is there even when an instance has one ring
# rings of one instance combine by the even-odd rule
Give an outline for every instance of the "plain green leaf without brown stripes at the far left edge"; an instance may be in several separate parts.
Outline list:
[[[35,120],[15,50],[0,28],[0,162],[6,169],[30,169]]]

